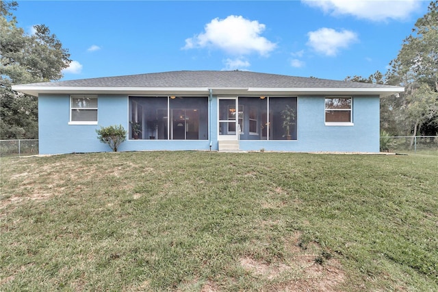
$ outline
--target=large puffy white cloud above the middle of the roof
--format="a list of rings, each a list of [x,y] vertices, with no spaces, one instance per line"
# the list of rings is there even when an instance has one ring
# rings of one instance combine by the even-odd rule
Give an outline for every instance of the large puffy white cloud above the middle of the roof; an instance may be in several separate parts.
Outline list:
[[[260,36],[266,25],[242,16],[230,15],[226,19],[213,19],[204,29],[201,34],[187,38],[183,49],[209,47],[237,56],[253,52],[266,56],[276,47],[275,43]]]

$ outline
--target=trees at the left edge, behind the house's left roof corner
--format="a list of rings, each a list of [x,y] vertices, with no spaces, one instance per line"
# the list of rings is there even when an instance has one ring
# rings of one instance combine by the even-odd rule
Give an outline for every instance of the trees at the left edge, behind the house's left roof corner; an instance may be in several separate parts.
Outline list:
[[[70,54],[45,25],[35,34],[17,27],[16,1],[0,1],[0,138],[38,138],[36,97],[12,90],[13,84],[59,80]]]

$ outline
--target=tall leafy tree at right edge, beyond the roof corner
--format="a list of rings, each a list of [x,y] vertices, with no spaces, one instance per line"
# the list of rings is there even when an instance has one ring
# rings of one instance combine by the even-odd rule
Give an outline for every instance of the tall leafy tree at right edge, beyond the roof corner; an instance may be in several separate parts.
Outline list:
[[[430,2],[412,32],[403,40],[386,77],[388,84],[405,87],[394,108],[398,112],[395,117],[404,117],[397,121],[404,126],[400,130],[416,135],[425,125],[438,125],[438,1]]]

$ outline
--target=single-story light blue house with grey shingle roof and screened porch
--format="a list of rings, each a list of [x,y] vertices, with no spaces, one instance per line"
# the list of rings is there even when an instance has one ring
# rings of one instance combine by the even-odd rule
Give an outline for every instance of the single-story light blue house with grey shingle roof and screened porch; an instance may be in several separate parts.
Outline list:
[[[248,71],[173,71],[35,84],[40,154],[111,151],[379,151],[380,97],[399,86]],[[141,132],[136,132],[136,127]]]

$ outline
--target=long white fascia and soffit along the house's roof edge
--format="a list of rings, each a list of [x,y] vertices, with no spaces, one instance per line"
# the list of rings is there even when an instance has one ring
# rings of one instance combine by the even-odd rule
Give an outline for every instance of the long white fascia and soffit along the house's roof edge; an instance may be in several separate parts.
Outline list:
[[[38,97],[41,94],[108,95],[379,95],[404,92],[400,86],[370,88],[208,88],[208,87],[77,87],[14,85],[13,90]]]

